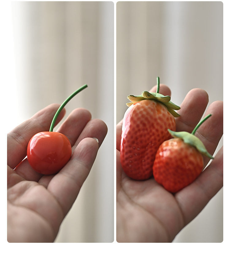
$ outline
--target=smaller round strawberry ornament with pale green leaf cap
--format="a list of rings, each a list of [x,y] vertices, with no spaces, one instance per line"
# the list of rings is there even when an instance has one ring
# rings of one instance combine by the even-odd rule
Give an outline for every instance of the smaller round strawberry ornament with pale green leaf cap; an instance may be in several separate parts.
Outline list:
[[[192,183],[203,170],[202,154],[213,159],[204,144],[194,135],[210,116],[201,120],[191,134],[169,130],[174,138],[164,141],[157,150],[153,176],[166,190],[175,193]]]

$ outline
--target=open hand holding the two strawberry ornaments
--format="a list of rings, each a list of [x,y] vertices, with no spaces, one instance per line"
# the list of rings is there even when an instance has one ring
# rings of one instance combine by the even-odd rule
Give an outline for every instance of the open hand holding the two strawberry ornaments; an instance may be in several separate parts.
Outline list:
[[[156,91],[156,86],[151,92]],[[166,85],[159,93],[171,95]],[[190,90],[177,111],[176,130],[192,132],[208,104],[208,94],[201,89]],[[223,134],[223,102],[215,101],[205,116],[212,114],[196,132],[210,154]],[[154,178],[136,181],[121,167],[120,141],[122,120],[117,124],[117,242],[172,242],[176,234],[205,207],[223,186],[223,147],[209,166],[189,186],[171,194]]]

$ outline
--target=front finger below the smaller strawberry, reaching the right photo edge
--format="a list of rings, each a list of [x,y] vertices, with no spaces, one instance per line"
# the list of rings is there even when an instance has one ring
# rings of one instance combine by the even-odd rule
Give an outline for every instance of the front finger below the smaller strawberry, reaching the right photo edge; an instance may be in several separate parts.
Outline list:
[[[189,186],[175,194],[185,225],[193,220],[223,186],[223,147],[212,163]]]

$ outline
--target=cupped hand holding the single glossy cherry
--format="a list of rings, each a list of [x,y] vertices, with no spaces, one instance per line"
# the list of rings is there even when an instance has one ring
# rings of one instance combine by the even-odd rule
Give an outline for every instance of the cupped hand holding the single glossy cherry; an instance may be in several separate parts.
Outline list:
[[[35,172],[25,158],[27,144],[34,134],[49,130],[59,106],[47,106],[7,134],[8,242],[55,240],[59,226],[88,176],[107,133],[105,123],[91,119],[88,110],[73,110],[57,130],[71,142],[69,162],[55,175]],[[56,124],[64,114],[63,109]]]

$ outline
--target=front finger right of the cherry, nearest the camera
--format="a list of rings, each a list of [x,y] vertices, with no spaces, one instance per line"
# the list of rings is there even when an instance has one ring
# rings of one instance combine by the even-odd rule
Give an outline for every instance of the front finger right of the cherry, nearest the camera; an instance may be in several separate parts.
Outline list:
[[[66,215],[88,176],[98,152],[98,142],[84,138],[75,148],[70,161],[56,174],[47,189],[55,196]]]

